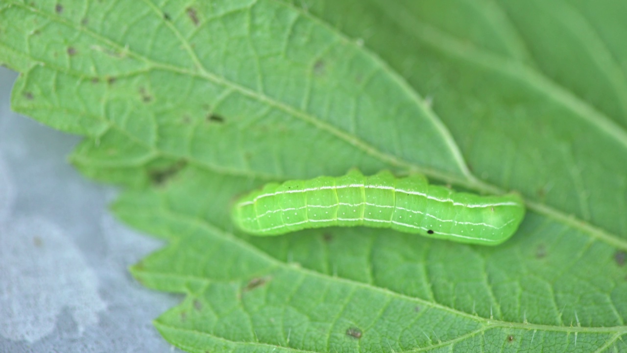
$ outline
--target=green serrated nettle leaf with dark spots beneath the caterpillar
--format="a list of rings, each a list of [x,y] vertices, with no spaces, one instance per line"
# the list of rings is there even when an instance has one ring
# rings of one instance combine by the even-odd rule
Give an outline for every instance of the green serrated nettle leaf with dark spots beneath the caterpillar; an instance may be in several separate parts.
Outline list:
[[[189,352],[627,351],[621,0],[0,1],[16,111],[169,245]],[[497,247],[389,229],[236,231],[265,182],[424,173],[528,212]]]

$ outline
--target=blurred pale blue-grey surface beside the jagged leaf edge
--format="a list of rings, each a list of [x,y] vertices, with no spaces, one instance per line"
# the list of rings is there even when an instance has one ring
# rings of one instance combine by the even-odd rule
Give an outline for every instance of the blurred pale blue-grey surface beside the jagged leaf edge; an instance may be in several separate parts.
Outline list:
[[[0,352],[180,352],[151,320],[181,297],[127,271],[162,242],[68,164],[80,138],[11,112],[16,77],[0,67]]]

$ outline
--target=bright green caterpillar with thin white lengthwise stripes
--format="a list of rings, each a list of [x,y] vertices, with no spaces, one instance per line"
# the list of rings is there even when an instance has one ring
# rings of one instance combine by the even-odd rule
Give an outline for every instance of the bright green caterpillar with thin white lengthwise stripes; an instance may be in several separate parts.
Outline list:
[[[366,225],[484,245],[507,240],[524,215],[517,193],[479,196],[429,185],[421,175],[396,178],[381,171],[364,176],[357,170],[337,178],[270,183],[233,207],[234,222],[258,236]]]

